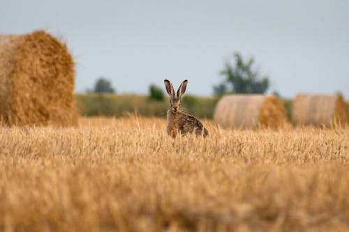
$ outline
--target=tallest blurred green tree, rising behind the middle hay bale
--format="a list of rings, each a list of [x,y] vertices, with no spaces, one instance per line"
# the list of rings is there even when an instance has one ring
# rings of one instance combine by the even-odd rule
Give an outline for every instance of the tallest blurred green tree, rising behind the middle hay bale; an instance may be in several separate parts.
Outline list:
[[[225,70],[221,75],[225,79],[221,84],[214,86],[214,94],[224,93],[265,93],[269,88],[268,77],[260,77],[259,73],[253,70],[253,58],[244,63],[239,53],[234,54],[235,64],[225,63]]]

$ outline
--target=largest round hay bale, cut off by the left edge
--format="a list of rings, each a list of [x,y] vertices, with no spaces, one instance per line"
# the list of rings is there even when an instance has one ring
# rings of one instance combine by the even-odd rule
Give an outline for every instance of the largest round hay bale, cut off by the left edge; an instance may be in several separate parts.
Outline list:
[[[77,124],[72,56],[45,31],[0,35],[0,119],[7,125]]]

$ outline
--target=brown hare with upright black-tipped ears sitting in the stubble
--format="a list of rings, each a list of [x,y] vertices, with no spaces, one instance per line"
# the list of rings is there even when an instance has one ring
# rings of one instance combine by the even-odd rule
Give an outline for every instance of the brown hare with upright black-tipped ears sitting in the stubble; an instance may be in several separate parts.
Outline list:
[[[202,123],[189,114],[184,114],[181,112],[181,96],[186,91],[187,80],[181,83],[177,91],[177,97],[174,94],[174,89],[171,82],[168,79],[164,80],[166,91],[171,98],[171,108],[168,110],[168,125],[166,127],[166,131],[168,134],[174,138],[177,134],[187,134],[195,132],[196,136],[204,136],[207,137],[209,132],[202,125]]]

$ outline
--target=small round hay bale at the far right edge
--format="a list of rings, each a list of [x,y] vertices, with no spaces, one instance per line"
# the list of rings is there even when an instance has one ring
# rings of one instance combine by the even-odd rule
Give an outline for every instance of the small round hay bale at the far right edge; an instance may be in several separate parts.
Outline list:
[[[342,95],[298,94],[292,104],[294,125],[345,125],[346,103]]]

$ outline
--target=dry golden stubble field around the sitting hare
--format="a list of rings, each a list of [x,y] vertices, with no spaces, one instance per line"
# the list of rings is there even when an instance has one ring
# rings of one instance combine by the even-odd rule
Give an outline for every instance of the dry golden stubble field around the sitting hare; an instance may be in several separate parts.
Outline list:
[[[349,127],[0,127],[0,231],[348,231]]]

